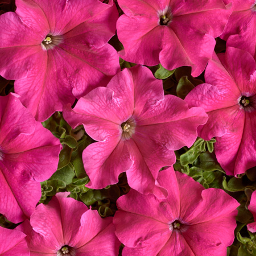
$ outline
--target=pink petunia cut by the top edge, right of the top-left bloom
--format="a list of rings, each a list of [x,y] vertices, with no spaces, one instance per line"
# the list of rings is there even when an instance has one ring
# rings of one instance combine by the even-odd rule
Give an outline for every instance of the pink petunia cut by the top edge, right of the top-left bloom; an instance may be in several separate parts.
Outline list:
[[[161,63],[172,70],[191,66],[199,76],[212,59],[230,5],[222,0],[118,0],[125,13],[117,21],[123,59],[143,65]]]

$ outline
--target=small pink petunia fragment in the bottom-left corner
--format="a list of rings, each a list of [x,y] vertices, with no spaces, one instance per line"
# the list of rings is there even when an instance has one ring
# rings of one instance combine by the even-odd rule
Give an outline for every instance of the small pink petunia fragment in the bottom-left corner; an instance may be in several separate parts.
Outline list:
[[[18,230],[5,229],[0,226],[1,256],[30,256],[26,235]]]

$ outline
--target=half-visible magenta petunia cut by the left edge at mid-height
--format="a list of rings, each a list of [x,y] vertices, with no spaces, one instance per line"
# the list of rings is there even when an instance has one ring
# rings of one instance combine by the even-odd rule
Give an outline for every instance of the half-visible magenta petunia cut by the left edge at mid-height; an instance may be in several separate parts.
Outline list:
[[[60,149],[16,94],[0,97],[0,213],[8,220],[18,223],[34,212],[40,181],[57,170]]]

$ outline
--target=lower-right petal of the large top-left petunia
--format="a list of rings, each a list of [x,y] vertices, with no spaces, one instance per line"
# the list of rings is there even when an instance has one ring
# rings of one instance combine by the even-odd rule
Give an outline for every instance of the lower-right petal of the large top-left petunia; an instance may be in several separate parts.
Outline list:
[[[95,48],[73,42],[73,38],[64,39],[58,52],[65,69],[70,69],[66,76],[71,80],[68,82],[73,87],[72,92],[80,98],[99,85],[108,84],[110,78],[120,70],[119,57],[109,44]]]

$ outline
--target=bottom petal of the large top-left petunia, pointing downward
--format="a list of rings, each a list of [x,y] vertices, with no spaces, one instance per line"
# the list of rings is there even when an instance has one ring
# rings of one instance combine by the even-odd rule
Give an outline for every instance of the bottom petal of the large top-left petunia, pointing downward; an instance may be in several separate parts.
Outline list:
[[[52,49],[42,51],[42,60],[35,64],[24,79],[15,82],[15,91],[20,94],[20,101],[31,110],[38,121],[44,121],[63,105],[75,101],[72,96],[72,80],[68,76],[75,73],[71,65],[65,65],[63,51]],[[56,73],[58,76],[56,76]],[[75,78],[76,79],[76,76]]]

